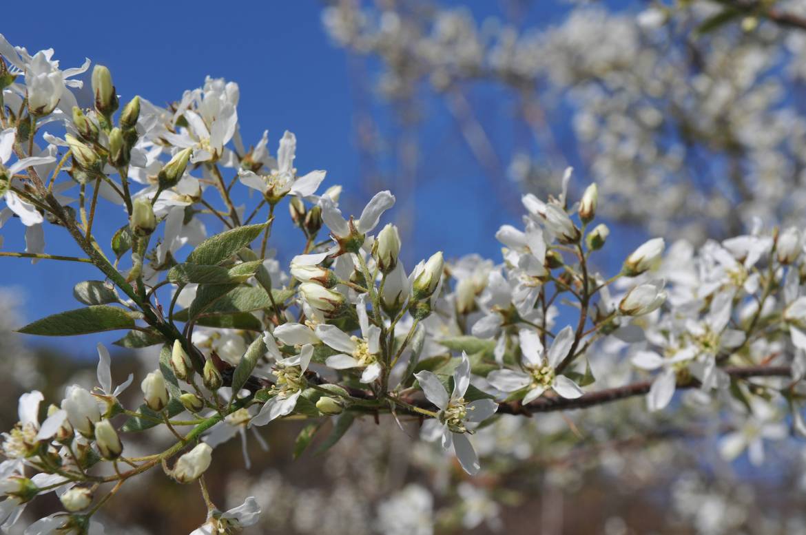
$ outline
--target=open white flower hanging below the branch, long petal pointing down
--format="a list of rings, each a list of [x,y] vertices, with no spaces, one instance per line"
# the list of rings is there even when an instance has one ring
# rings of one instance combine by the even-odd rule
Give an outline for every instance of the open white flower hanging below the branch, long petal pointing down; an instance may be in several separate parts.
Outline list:
[[[415,376],[426,398],[439,409],[438,420],[426,420],[423,424],[423,438],[441,440],[442,448],[446,450],[452,445],[464,471],[475,475],[481,466],[476,450],[473,450],[465,433],[472,433],[472,428],[491,417],[498,410],[498,404],[488,399],[471,403],[464,400],[464,394],[470,386],[470,359],[464,353],[454,372],[454,388],[450,396],[438,377],[430,371],[420,371]]]

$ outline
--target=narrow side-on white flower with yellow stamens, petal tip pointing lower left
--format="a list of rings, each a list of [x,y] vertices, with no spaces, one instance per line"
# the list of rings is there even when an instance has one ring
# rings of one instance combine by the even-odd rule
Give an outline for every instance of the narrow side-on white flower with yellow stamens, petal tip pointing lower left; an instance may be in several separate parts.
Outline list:
[[[302,375],[308,369],[313,355],[314,346],[308,344],[302,347],[299,355],[277,361],[272,371],[276,378],[276,384],[271,391],[272,397],[263,404],[260,412],[249,421],[249,427],[252,425],[266,425],[276,418],[292,413],[297,406],[297,400],[302,390],[305,388],[305,378]]]

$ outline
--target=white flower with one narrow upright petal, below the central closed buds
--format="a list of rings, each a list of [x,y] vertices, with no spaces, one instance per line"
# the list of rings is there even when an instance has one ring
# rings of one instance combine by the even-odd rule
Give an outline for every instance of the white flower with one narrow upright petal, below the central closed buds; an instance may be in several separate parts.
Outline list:
[[[334,350],[342,351],[338,355],[330,355],[325,362],[327,366],[334,370],[363,368],[361,382],[368,384],[380,377],[383,367],[378,361],[380,355],[380,327],[369,325],[366,301],[366,294],[362,294],[355,304],[362,338],[348,336],[339,327],[332,325],[316,326],[316,336]]]

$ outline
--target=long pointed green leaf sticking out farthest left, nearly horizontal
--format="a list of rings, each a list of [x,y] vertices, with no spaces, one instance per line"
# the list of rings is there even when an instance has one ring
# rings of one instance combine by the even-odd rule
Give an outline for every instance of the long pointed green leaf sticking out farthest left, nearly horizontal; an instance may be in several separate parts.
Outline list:
[[[106,330],[131,329],[135,319],[116,306],[93,305],[85,309],[68,310],[29,323],[18,332],[39,336],[73,336],[102,333]]]

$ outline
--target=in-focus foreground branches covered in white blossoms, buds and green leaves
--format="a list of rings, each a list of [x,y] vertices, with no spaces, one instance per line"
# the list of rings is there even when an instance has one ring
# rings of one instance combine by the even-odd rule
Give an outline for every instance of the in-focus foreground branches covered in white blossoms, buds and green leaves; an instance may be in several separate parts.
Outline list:
[[[276,156],[267,135],[246,150],[235,83],[208,78],[168,108],[142,97],[121,106],[96,65],[94,105],[81,109],[71,88],[89,61],[61,70],[52,51],[31,56],[2,36],[0,55],[0,222],[19,218],[27,242],[0,256],[98,269],[73,289],[80,308],[19,332],[119,330],[118,345],[153,355],[147,375],[114,385],[99,345],[92,390],[20,397],[19,422],[3,434],[4,527],[54,491],[62,510],[25,533],[103,533],[95,513],[154,469],[199,487],[208,514],[194,535],[238,533],[258,521],[256,498],[222,511],[205,472],[222,462],[216,446],[247,429],[260,441],[285,418],[310,420],[297,454],[327,421],[325,448],[362,418],[416,425],[469,475],[484,470],[473,444],[483,426],[631,396],[646,396],[650,412],[675,411],[677,390],[699,392],[715,419],[733,422],[725,458],[748,450],[762,462],[763,443],[786,436],[787,419],[806,432],[806,262],[795,227],[759,223],[699,251],[653,238],[603,273],[597,255],[613,237],[596,222],[598,190],[571,198],[569,169],[554,196],[522,197],[521,226],[496,233],[499,263],[435,252],[407,269],[397,228],[377,230],[393,193],[343,214],[326,172],[297,172],[290,132]],[[244,186],[257,192],[251,206],[233,200]],[[120,219],[109,244],[93,234],[101,209]],[[207,235],[202,216],[222,231]],[[284,216],[304,243],[290,276],[268,249]],[[45,252],[46,226],[66,230],[81,256]],[[604,357],[599,370],[592,355]],[[139,406],[119,400],[132,383]],[[134,433],[166,430],[167,449],[127,450]],[[459,493],[482,501],[473,487]],[[398,500],[430,508],[417,487]]]

